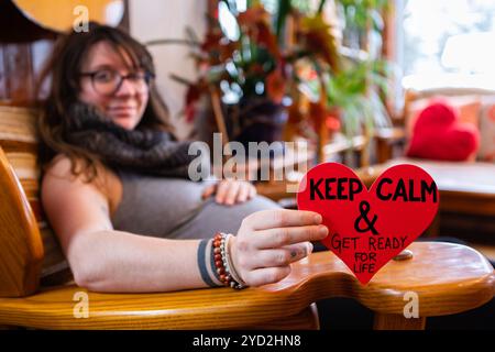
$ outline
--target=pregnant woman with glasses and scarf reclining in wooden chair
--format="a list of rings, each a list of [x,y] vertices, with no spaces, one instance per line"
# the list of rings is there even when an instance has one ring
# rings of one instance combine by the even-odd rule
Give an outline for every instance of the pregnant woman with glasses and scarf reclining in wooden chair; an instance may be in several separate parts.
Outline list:
[[[38,121],[43,207],[76,283],[168,292],[278,282],[328,229],[245,182],[188,179],[146,48],[91,24],[56,44]]]

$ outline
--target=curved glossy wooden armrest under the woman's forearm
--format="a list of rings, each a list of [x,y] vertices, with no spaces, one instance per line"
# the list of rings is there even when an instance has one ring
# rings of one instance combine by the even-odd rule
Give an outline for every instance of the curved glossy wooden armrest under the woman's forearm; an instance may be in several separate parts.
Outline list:
[[[493,267],[476,251],[451,243],[416,242],[410,261],[392,261],[361,285],[331,252],[293,265],[284,280],[258,288],[196,289],[164,294],[99,294],[72,286],[24,298],[0,298],[0,324],[41,329],[224,329],[284,320],[330,297],[354,298],[382,327],[403,317],[405,294],[419,297],[421,319],[476,308],[494,296]],[[88,318],[73,315],[75,294],[88,296]],[[400,319],[399,319],[400,320]],[[403,321],[404,322],[404,321]],[[389,324],[388,324],[389,326]],[[404,324],[403,324],[404,327]]]

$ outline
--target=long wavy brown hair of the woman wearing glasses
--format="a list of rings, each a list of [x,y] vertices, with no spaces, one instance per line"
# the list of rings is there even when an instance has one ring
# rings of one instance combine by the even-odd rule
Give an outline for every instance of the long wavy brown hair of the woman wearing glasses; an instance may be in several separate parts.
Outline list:
[[[91,22],[88,32],[70,31],[62,35],[55,43],[37,84],[37,96],[41,96],[42,87],[50,80],[46,99],[38,101],[38,163],[43,172],[57,154],[66,155],[72,162],[70,172],[75,176],[84,174],[86,182],[94,180],[98,176],[99,167],[103,166],[97,154],[67,142],[67,125],[70,119],[68,110],[78,101],[82,63],[89,50],[102,41],[109,43],[117,53],[129,56],[132,69],[143,69],[152,76],[155,75],[153,57],[146,47],[120,29]],[[150,82],[147,106],[135,129],[143,128],[167,131],[174,136],[167,107],[153,80]]]

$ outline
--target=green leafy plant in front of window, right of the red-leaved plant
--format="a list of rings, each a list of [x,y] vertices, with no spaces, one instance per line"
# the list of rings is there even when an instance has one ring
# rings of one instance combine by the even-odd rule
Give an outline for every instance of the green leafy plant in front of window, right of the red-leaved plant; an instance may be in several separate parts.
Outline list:
[[[332,139],[332,132],[343,132],[349,144],[354,136],[364,136],[367,144],[375,127],[391,125],[381,97],[387,89],[388,64],[380,57],[381,43],[371,45],[364,40],[372,36],[370,33],[380,35],[383,30],[381,13],[386,1],[336,0],[336,3],[343,13],[341,18],[345,19],[344,40],[352,36],[349,32],[356,31],[359,43],[353,47],[339,43],[330,69],[322,69],[318,61],[312,61],[308,76],[314,78],[304,84],[306,96],[312,97],[309,109],[306,114],[295,107],[292,109],[298,117],[294,121],[312,122],[317,132],[318,162],[324,160],[322,148]]]

